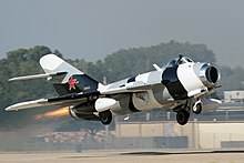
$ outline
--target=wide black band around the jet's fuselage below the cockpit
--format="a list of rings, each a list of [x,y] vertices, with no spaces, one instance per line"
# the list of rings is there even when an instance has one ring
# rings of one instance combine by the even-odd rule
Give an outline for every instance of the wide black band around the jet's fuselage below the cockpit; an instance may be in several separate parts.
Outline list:
[[[184,100],[187,98],[187,91],[177,78],[177,68],[176,65],[166,68],[162,74],[162,83],[174,100]]]

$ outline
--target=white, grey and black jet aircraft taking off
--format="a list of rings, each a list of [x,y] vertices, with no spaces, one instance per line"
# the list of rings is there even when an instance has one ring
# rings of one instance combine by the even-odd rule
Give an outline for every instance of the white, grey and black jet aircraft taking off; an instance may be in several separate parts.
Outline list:
[[[115,115],[167,108],[176,112],[177,123],[184,125],[191,113],[211,111],[221,103],[206,98],[217,88],[218,69],[181,54],[163,68],[153,64],[154,71],[108,85],[54,54],[42,57],[40,65],[44,74],[17,77],[9,81],[47,78],[59,95],[17,103],[6,111],[61,105],[69,106],[69,113],[74,119],[101,121],[108,125]]]

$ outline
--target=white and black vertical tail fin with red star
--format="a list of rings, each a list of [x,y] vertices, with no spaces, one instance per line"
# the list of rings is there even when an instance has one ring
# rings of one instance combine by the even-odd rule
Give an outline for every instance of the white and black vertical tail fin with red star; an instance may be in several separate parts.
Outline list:
[[[90,92],[102,85],[54,54],[42,57],[40,64],[45,73],[61,73],[50,79],[59,95]]]

